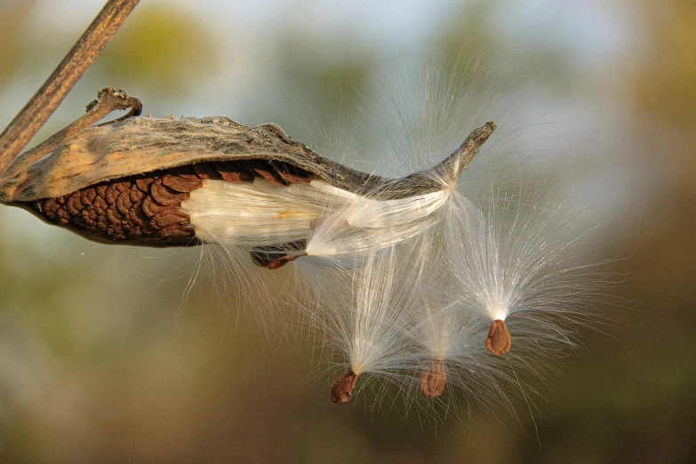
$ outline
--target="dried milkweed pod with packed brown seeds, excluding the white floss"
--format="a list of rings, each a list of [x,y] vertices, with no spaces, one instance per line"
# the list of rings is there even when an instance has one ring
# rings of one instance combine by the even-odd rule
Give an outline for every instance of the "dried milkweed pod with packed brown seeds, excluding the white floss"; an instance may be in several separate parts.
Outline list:
[[[124,108],[132,110],[114,121],[91,125],[109,111]],[[138,117],[140,101],[113,88],[102,89],[87,109],[83,117],[9,166],[0,166],[0,203],[20,206],[93,240],[150,246],[198,243],[191,240],[196,231],[181,225],[186,221],[172,225],[171,220],[151,219],[170,209],[180,211],[181,202],[204,180],[256,178],[278,187],[323,180],[379,200],[407,198],[440,191],[442,179],[459,177],[496,129],[486,123],[441,164],[388,179],[318,156],[276,124],[244,125],[222,116]],[[68,208],[59,211],[57,204],[70,198]],[[117,210],[109,210],[112,204]],[[284,257],[268,267],[292,259]]]

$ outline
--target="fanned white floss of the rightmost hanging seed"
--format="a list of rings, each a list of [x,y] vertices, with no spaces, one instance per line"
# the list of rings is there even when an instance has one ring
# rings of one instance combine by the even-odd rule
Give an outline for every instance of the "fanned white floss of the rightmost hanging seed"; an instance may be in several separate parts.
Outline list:
[[[573,346],[577,328],[597,322],[592,308],[609,284],[583,208],[555,196],[543,183],[492,186],[481,210],[453,196],[443,224],[451,310],[507,321],[513,349],[530,359]]]

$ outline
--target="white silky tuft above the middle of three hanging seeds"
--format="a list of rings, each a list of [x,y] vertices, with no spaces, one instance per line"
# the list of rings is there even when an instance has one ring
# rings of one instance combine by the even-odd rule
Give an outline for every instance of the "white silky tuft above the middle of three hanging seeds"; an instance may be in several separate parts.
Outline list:
[[[477,211],[473,204],[469,208]],[[436,394],[427,395],[421,382],[420,394],[427,398],[419,404],[435,420],[442,419],[443,411],[458,415],[459,404],[478,403],[492,411],[514,412],[511,397],[518,387],[509,357],[492,356],[486,350],[484,340],[490,323],[448,292],[455,279],[443,232],[444,227],[433,228],[405,251],[407,261],[419,269],[414,271],[419,279],[413,290],[419,303],[411,309],[412,325],[407,329],[413,356],[409,373],[420,376],[432,368],[434,361],[441,361],[446,376],[446,387]],[[411,397],[420,396],[418,388],[409,393]]]

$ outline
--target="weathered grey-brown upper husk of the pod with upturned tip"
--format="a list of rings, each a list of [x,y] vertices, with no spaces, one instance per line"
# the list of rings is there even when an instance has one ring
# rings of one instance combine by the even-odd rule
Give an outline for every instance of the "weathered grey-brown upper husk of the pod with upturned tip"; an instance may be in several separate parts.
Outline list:
[[[442,172],[458,177],[495,129],[495,124],[486,123],[442,163],[388,179],[318,156],[276,124],[245,125],[222,116],[127,117],[77,132],[59,141],[49,154],[37,147],[20,156],[21,163],[0,172],[0,203],[67,196],[97,184],[181,166],[193,166],[200,179],[220,179],[211,166],[220,162],[248,162],[254,176],[278,185],[292,182],[293,177],[311,177],[383,200],[404,198],[440,190],[442,184],[436,179]],[[271,162],[288,168],[276,170]]]

